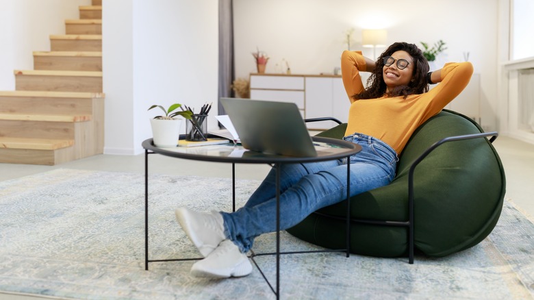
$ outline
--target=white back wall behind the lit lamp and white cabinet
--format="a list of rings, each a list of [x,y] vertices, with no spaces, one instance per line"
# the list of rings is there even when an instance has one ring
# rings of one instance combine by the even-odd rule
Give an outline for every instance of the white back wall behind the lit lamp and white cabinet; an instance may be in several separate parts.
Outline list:
[[[361,48],[361,29],[387,29],[387,42],[433,44],[448,49],[437,63],[463,61],[469,51],[481,74],[482,125],[495,129],[497,105],[497,0],[233,0],[236,76],[255,72],[256,47],[270,56],[266,72],[288,60],[294,74],[332,73],[346,49],[344,33],[354,28],[352,50]],[[377,55],[384,49],[377,49]]]

